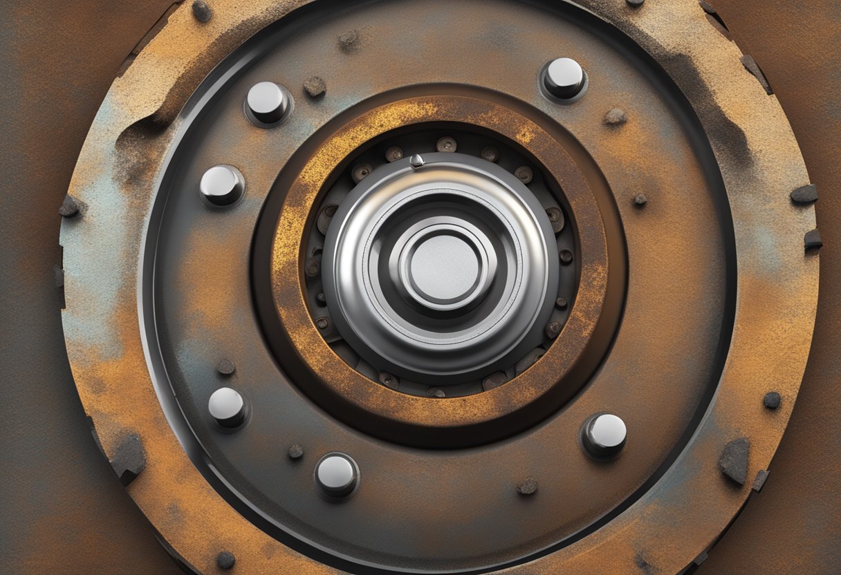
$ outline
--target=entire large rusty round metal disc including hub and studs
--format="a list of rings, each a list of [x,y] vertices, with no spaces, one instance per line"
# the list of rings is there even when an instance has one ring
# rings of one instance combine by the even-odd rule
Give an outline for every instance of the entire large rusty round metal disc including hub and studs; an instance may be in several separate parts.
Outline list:
[[[167,548],[700,561],[764,483],[817,303],[806,168],[741,60],[694,2],[177,8],[61,229],[73,376]]]

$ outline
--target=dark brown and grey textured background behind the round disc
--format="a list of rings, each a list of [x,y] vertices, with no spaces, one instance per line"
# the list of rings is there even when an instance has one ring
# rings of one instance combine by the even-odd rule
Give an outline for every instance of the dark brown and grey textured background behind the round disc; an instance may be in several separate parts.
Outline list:
[[[812,357],[790,428],[762,493],[698,572],[841,572],[841,5],[714,4],[791,120],[821,193],[824,247]],[[126,56],[169,6],[10,0],[0,8],[3,572],[179,572],[93,442],[67,365],[54,280],[57,209],[87,127]]]

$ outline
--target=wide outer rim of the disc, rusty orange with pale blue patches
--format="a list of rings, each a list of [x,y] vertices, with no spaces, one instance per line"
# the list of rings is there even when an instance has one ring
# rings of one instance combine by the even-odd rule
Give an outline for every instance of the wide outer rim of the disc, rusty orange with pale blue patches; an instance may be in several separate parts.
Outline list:
[[[736,488],[718,471],[723,446],[748,437],[748,477],[753,477],[767,467],[785,429],[817,298],[817,258],[804,256],[802,249],[814,217],[811,208],[788,202],[788,192],[808,182],[779,106],[745,75],[735,46],[705,32],[706,19],[694,3],[652,3],[632,12],[621,3],[587,4],[658,58],[706,129],[733,213],[738,309],[717,393],[690,446],[664,477],[602,529],[516,568],[621,572],[648,566],[669,572],[710,545],[748,495],[749,482]],[[143,438],[147,467],[129,491],[188,563],[212,570],[225,547],[245,558],[242,568],[249,572],[326,572],[246,522],[204,482],[167,425],[140,346],[138,248],[151,184],[177,131],[173,110],[180,109],[208,62],[218,60],[214,54],[226,53],[283,13],[257,5],[226,8],[214,3],[209,24],[198,24],[187,8],[179,8],[149,51],[115,82],[98,114],[71,184],[82,213],[62,229],[68,350],[106,453],[114,454],[126,432]],[[211,24],[216,28],[199,28]],[[217,34],[220,40],[214,41]],[[208,60],[196,64],[197,54]],[[587,129],[579,130],[576,135],[587,140]],[[626,136],[613,145],[620,157],[633,158],[631,150],[622,154],[623,146],[639,140]],[[632,251],[632,264],[633,257]],[[781,299],[785,308],[775,305]],[[770,379],[789,399],[773,414],[759,401]]]

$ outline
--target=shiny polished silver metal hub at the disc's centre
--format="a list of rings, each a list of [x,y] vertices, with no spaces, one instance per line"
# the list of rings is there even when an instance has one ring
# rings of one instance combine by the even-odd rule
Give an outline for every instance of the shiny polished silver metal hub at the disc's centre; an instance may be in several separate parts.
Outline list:
[[[327,231],[336,329],[381,371],[465,382],[539,345],[558,287],[552,225],[526,185],[459,153],[371,172]]]

